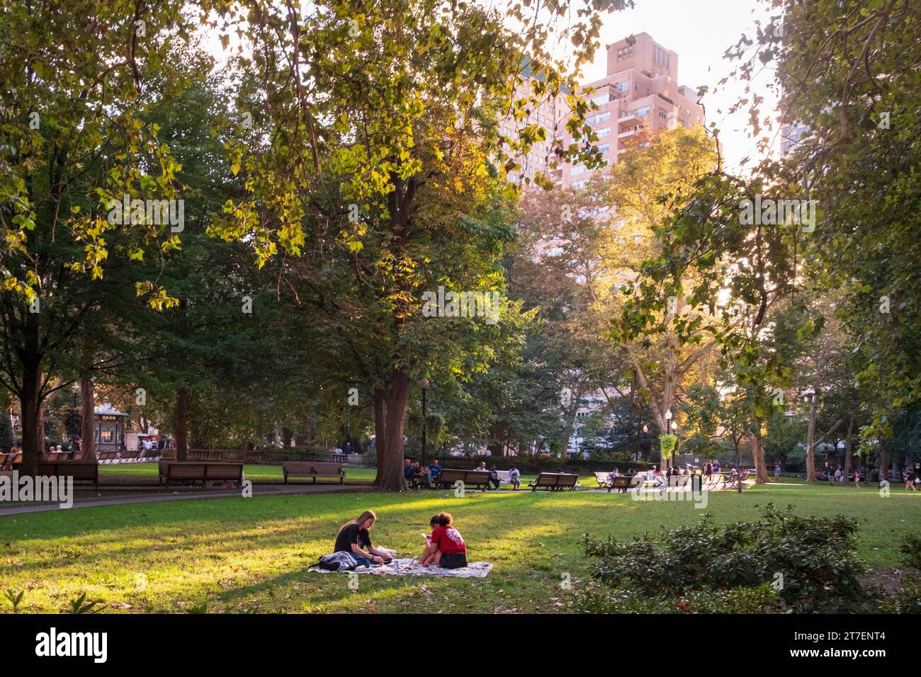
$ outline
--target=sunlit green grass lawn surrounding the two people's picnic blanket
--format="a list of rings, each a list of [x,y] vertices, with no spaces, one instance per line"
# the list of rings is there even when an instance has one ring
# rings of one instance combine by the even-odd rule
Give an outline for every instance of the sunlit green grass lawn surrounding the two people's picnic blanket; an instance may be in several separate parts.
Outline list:
[[[117,467],[117,466],[116,466]],[[262,466],[264,467],[264,466]],[[584,483],[583,483],[584,484]],[[258,485],[257,485],[258,489]],[[22,612],[60,612],[82,592],[106,611],[181,612],[554,612],[587,579],[583,534],[629,539],[691,524],[755,519],[756,504],[796,506],[800,515],[842,512],[866,519],[859,554],[894,566],[904,533],[916,531],[921,495],[893,489],[778,484],[709,496],[706,510],[687,502],[635,502],[630,496],[565,492],[413,492],[404,495],[254,496],[0,518],[0,590],[25,590]],[[419,554],[428,520],[448,510],[471,561],[494,565],[488,578],[359,577],[308,573],[332,550],[336,531],[365,508],[379,521],[374,543]],[[0,609],[11,610],[5,599]]]

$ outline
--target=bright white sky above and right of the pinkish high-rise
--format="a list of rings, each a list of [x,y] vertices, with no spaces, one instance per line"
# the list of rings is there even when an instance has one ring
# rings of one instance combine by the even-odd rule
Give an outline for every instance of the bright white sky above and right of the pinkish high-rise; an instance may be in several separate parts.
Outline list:
[[[730,80],[724,88],[713,93],[720,79],[728,76],[732,64],[723,58],[730,45],[745,32],[753,33],[755,20],[767,25],[770,12],[767,5],[756,0],[635,0],[636,7],[605,17],[601,28],[601,48],[595,63],[586,69],[586,82],[605,76],[607,52],[604,46],[634,33],[647,32],[663,47],[678,53],[678,84],[698,88],[708,85],[703,101],[706,123],[716,122],[726,159],[726,169],[738,169],[741,158],[756,157],[754,140],[748,137],[748,115],[740,111],[729,116],[729,105],[743,96],[744,85]],[[736,62],[738,63],[738,62]],[[775,101],[765,97],[762,111],[774,110]],[[717,112],[717,109],[723,112]],[[764,117],[764,114],[763,116]],[[779,146],[778,140],[775,146]],[[747,167],[751,167],[749,162]]]

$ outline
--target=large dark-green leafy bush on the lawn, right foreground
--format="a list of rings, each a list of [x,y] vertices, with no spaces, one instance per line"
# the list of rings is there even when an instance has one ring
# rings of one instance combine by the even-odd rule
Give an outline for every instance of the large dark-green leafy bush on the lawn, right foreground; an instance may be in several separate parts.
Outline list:
[[[705,515],[695,526],[667,531],[661,543],[648,535],[634,543],[593,541],[587,535],[586,554],[598,560],[592,576],[610,590],[601,593],[603,600],[586,594],[579,603],[586,611],[606,605],[666,609],[682,600],[700,611],[730,606],[796,613],[879,611],[879,590],[864,584],[867,568],[854,554],[856,519],[801,518],[792,507],[779,511],[772,504],[762,515],[721,528]],[[775,596],[763,590],[772,584]]]

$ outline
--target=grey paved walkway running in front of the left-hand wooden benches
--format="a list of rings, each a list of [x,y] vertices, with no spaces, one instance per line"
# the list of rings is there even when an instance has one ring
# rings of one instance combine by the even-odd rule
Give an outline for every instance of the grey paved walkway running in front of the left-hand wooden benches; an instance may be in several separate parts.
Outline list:
[[[94,489],[75,487],[73,508],[101,508],[105,506],[124,506],[134,503],[164,503],[168,501],[184,501],[194,498],[237,498],[242,496],[241,489],[205,489],[164,492],[159,487],[138,486],[131,489],[119,487],[100,487],[100,489],[117,490],[117,496],[104,496]],[[252,484],[252,496],[291,496],[300,494],[343,494],[367,491],[370,484]],[[150,492],[144,494],[143,492]],[[73,509],[71,508],[71,509]],[[29,512],[48,512],[60,510],[57,503],[22,503],[9,508],[0,508],[0,517],[9,515],[23,515]]]

